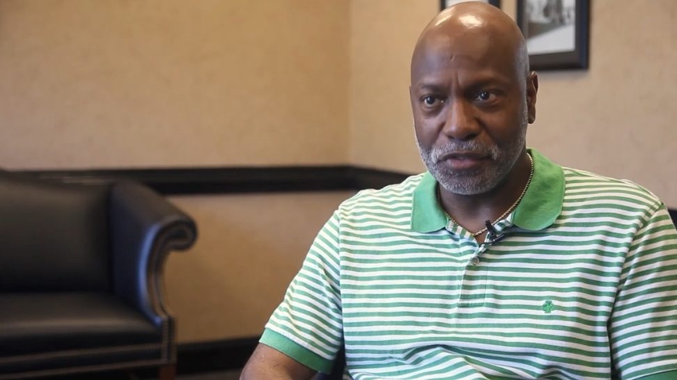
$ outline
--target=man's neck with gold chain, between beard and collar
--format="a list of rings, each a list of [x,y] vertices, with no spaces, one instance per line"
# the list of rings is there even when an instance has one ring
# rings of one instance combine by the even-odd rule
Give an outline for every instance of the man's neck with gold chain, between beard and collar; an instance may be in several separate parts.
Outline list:
[[[481,194],[461,195],[439,187],[442,207],[456,223],[475,232],[485,228],[485,221],[493,223],[520,198],[531,174],[531,162],[526,150],[504,181],[494,189]]]

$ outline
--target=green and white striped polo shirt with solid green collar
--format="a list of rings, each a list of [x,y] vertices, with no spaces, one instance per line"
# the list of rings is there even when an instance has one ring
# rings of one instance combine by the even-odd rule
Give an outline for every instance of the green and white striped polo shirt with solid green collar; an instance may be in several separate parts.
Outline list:
[[[433,177],[346,200],[261,342],[347,379],[677,379],[677,232],[651,193],[535,150],[477,244]]]

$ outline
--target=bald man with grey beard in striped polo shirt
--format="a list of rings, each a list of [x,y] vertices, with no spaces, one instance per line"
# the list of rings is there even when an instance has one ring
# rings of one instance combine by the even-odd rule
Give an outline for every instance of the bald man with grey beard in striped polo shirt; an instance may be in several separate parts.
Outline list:
[[[628,181],[526,148],[538,77],[495,7],[460,3],[412,56],[428,173],[345,201],[242,379],[677,379],[677,232]]]

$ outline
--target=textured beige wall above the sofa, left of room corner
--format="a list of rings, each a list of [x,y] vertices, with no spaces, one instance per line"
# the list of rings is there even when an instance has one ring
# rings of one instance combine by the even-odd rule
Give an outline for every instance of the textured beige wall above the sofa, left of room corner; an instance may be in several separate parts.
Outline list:
[[[2,0],[0,167],[345,162],[348,10]]]

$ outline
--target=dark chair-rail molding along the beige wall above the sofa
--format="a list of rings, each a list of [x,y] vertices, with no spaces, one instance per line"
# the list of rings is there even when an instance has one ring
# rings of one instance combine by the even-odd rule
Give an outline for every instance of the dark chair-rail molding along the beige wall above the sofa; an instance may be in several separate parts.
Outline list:
[[[361,166],[252,166],[220,168],[139,168],[100,170],[15,171],[46,180],[100,184],[140,182],[164,195],[279,193],[379,189],[411,174]],[[669,209],[677,224],[677,208]]]

